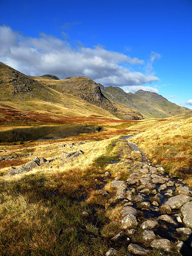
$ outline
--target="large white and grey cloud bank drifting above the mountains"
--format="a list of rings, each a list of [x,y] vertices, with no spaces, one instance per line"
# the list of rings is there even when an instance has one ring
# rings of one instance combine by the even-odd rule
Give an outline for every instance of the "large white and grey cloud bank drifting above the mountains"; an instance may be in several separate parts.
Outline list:
[[[153,74],[144,75],[122,65],[141,65],[143,60],[102,46],[88,48],[80,44],[73,48],[67,40],[44,33],[38,38],[26,37],[7,26],[0,26],[0,45],[1,61],[24,74],[54,74],[61,79],[87,76],[102,84],[119,86],[159,81]],[[151,59],[157,57],[152,55]]]

